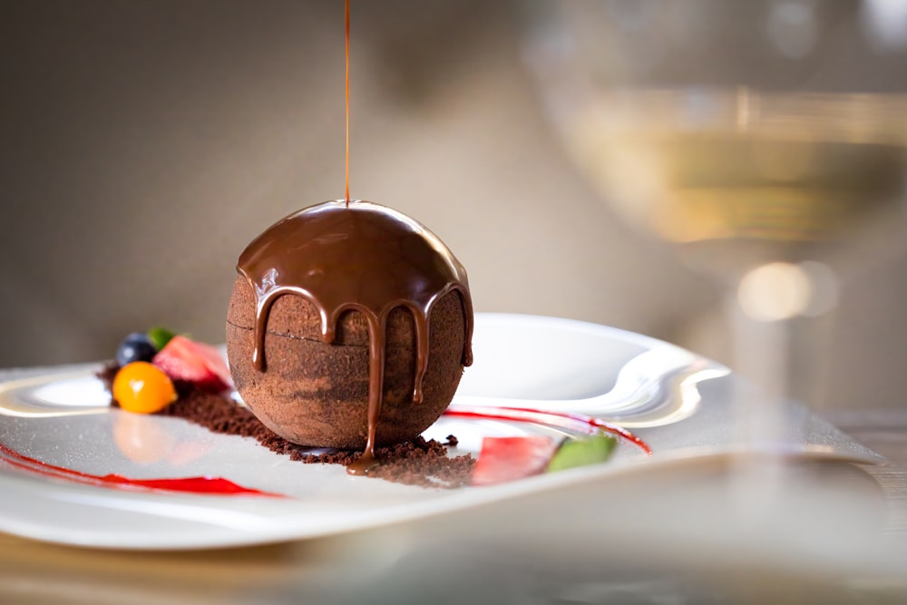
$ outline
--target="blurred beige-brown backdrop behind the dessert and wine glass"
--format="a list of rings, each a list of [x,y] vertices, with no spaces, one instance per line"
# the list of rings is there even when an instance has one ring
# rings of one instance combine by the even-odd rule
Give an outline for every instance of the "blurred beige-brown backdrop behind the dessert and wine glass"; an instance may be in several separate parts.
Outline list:
[[[728,360],[720,284],[630,229],[568,157],[522,8],[353,3],[352,196],[444,239],[478,311],[589,320]],[[876,82],[900,82],[881,64]],[[158,324],[220,342],[249,240],[343,196],[339,0],[4,0],[0,76],[0,367],[109,358]],[[823,408],[905,405],[902,233],[840,275]]]

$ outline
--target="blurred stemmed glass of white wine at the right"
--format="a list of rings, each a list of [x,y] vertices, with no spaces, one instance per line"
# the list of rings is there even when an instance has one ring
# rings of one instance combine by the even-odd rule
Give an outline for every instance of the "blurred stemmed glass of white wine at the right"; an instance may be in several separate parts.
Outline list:
[[[783,402],[814,388],[811,317],[834,310],[855,250],[903,233],[907,4],[522,7],[571,160],[616,215],[723,286],[731,366],[760,386],[735,402],[740,430],[782,451]]]

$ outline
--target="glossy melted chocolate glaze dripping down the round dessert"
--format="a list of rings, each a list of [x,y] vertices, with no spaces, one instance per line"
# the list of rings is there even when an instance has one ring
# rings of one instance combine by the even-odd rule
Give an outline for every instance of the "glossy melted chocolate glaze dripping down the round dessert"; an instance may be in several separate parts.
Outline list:
[[[422,401],[428,368],[429,315],[455,290],[463,299],[463,366],[472,364],[473,308],[463,265],[431,231],[405,214],[368,201],[327,201],[278,221],[239,257],[239,273],[254,292],[252,363],[267,371],[264,339],[268,312],[283,295],[306,298],[321,318],[321,337],[332,343],[340,316],[355,310],[369,333],[366,451],[351,473],[374,464],[381,413],[385,324],[396,307],[409,309],[415,334],[413,401]]]

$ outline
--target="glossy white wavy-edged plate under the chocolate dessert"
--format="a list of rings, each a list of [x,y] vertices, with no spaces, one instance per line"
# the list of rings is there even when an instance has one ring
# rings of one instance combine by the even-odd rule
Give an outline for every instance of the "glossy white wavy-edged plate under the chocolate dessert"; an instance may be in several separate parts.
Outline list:
[[[12,371],[0,383],[0,444],[20,454],[82,473],[217,475],[288,497],[124,491],[23,471],[0,458],[0,531],[105,548],[245,545],[506,504],[692,457],[768,452],[880,460],[795,405],[785,406],[784,438],[746,436],[735,402],[750,389],[724,366],[649,337],[566,319],[478,314],[473,348],[475,364],[453,405],[599,414],[632,427],[653,455],[620,441],[607,464],[493,487],[424,489],[351,477],[338,465],[292,462],[250,439],[211,434],[178,418],[108,409],[93,378],[97,366]],[[453,454],[476,454],[483,435],[539,432],[554,433],[536,424],[443,417],[426,436],[455,434],[460,445]]]

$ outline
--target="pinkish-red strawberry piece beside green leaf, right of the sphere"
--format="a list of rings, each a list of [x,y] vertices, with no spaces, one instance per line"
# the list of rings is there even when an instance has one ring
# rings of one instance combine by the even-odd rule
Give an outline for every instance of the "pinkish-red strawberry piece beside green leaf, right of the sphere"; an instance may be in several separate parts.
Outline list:
[[[484,437],[473,485],[493,485],[544,472],[558,443],[550,437]]]

